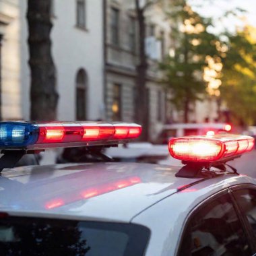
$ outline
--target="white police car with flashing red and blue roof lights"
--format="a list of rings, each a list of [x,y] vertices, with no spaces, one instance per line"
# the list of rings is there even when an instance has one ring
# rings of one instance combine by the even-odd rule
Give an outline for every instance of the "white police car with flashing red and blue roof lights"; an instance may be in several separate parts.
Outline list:
[[[15,168],[24,154],[139,136],[125,123],[0,123],[0,255],[253,255],[256,181],[230,160],[241,135],[171,139],[182,166],[106,162]],[[166,145],[167,150],[167,145]]]

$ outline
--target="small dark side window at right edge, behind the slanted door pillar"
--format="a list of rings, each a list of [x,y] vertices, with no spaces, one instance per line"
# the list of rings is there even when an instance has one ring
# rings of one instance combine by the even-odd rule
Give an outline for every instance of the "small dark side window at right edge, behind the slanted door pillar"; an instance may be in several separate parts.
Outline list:
[[[234,191],[234,196],[256,235],[256,190],[242,189]]]

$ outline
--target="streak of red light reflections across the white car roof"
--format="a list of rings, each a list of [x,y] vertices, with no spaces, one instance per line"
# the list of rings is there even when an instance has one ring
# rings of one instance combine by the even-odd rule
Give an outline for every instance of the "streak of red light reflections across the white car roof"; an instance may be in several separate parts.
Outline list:
[[[84,191],[78,192],[78,193],[72,193],[71,195],[66,195],[66,198],[62,199],[53,199],[49,202],[46,202],[44,207],[47,210],[54,209],[56,207],[61,207],[63,205],[66,205],[68,203],[73,203],[75,201],[79,201],[81,199],[89,199],[92,197],[96,197],[98,195],[103,195],[105,193],[116,191],[119,189],[124,189],[125,187],[133,186],[137,183],[141,183],[141,179],[139,177],[127,177],[126,179],[113,181],[110,183],[104,183],[102,185],[98,185],[95,187],[88,187],[88,189],[85,189]]]

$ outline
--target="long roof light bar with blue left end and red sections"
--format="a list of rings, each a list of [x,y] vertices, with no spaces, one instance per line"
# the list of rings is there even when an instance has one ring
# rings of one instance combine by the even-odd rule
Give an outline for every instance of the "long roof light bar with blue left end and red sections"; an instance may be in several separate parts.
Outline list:
[[[124,143],[141,134],[135,123],[0,122],[0,148],[42,150]]]

